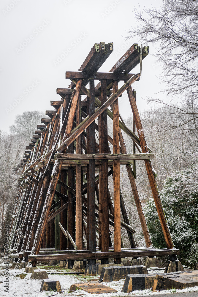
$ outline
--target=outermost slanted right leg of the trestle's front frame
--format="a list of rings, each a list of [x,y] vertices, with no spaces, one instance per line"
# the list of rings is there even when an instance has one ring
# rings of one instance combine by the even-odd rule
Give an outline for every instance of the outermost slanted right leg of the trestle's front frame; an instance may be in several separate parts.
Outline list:
[[[133,90],[132,90],[131,86],[127,89],[127,94],[128,94],[128,97],[129,97],[129,102],[130,102],[131,108],[132,108],[134,121],[135,121],[137,132],[138,132],[138,136],[139,136],[139,139],[140,139],[142,153],[148,153],[148,147],[147,147],[146,140],[145,140],[145,134],[144,134],[144,131],[143,131],[143,128],[142,128],[140,115],[139,115],[139,112],[138,112],[138,109],[137,109],[134,93],[133,93]],[[145,160],[145,166],[146,166],[146,170],[147,170],[151,190],[152,190],[152,193],[153,193],[153,198],[154,198],[154,201],[155,201],[157,213],[158,213],[158,216],[159,216],[161,228],[162,228],[162,231],[163,231],[163,234],[164,234],[164,239],[166,241],[167,249],[172,249],[174,247],[174,245],[173,245],[173,241],[172,241],[172,238],[171,238],[170,230],[168,228],[166,215],[164,213],[164,209],[163,209],[161,199],[160,199],[160,196],[159,196],[159,191],[158,191],[155,176],[154,176],[154,173],[153,173],[153,167],[152,167],[152,164],[151,164],[151,160],[149,160],[149,159]]]

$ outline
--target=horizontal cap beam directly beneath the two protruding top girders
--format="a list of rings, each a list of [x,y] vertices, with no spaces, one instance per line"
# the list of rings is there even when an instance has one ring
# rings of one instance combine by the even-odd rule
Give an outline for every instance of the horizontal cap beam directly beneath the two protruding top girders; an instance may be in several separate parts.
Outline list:
[[[65,78],[72,79],[109,79],[109,80],[129,80],[134,75],[134,73],[113,73],[113,72],[75,72],[75,71],[66,71]]]

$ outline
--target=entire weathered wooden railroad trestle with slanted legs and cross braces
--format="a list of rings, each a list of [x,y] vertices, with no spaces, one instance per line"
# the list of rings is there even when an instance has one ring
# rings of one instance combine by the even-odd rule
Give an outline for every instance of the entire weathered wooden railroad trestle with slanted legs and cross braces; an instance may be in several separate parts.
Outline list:
[[[120,263],[121,257],[141,255],[170,255],[174,260],[179,253],[173,246],[151,164],[153,154],[146,144],[136,93],[131,86],[140,77],[129,73],[140,63],[140,46],[132,45],[109,72],[97,72],[112,52],[112,42],[96,43],[78,72],[66,72],[66,78],[71,80],[69,88],[57,89],[61,100],[51,101],[54,110],[46,111],[49,118],[41,119],[43,124],[37,126],[26,146],[9,249],[15,250],[15,258],[27,260],[28,257],[33,266],[37,260],[72,260],[74,255],[75,259],[87,258],[89,264],[95,264],[96,258],[105,264],[108,257],[114,257],[115,263]],[[145,46],[142,59],[147,55]],[[95,79],[100,80],[97,86]],[[118,89],[120,80],[124,83]],[[125,90],[133,112],[133,131],[119,115],[118,97]],[[81,95],[86,95],[83,101]],[[113,138],[107,132],[107,116],[113,120]],[[133,154],[127,153],[122,131],[133,140]],[[113,145],[113,154],[108,143]],[[135,182],[136,159],[145,162],[167,249],[152,247]],[[120,164],[126,165],[145,248],[137,248],[134,239],[135,230],[130,225],[120,188]],[[108,187],[110,175],[113,199]],[[114,227],[113,250],[109,225]],[[83,249],[83,228],[86,249]],[[131,249],[123,247],[121,228],[127,230]],[[41,247],[47,248],[48,255],[42,255]],[[50,249],[54,247],[60,252]]]

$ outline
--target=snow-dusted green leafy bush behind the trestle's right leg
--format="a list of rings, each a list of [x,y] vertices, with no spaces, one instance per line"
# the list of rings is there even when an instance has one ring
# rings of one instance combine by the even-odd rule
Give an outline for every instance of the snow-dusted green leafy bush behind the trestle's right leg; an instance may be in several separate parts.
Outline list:
[[[160,192],[174,246],[180,249],[178,259],[193,267],[198,261],[198,184],[197,166],[176,172],[165,180]],[[153,199],[148,200],[145,217],[154,247],[166,248]]]

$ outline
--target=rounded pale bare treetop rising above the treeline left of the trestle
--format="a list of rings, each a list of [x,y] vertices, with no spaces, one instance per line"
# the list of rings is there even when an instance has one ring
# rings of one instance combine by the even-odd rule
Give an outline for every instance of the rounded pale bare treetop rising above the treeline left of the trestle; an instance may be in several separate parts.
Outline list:
[[[37,124],[40,124],[41,118],[47,117],[42,111],[24,111],[22,114],[15,116],[15,124],[9,127],[11,133],[23,135],[27,142],[35,134]]]

